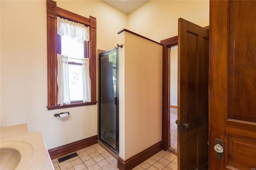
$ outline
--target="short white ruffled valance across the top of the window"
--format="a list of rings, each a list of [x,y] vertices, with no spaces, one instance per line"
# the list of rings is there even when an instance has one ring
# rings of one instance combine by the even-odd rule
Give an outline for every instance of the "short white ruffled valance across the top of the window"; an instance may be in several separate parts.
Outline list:
[[[72,39],[78,38],[79,42],[84,40],[88,42],[90,40],[90,27],[57,16],[57,34],[69,36]]]

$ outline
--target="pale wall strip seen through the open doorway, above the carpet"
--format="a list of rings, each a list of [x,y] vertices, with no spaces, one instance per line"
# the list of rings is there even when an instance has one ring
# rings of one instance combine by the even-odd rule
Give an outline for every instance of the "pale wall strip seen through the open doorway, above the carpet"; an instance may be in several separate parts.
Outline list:
[[[170,52],[170,105],[178,106],[178,48]]]

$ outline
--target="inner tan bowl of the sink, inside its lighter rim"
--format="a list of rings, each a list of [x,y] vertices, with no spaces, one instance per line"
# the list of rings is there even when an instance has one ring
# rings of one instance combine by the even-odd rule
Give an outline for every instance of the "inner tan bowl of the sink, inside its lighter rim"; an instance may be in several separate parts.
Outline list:
[[[2,170],[14,170],[20,163],[20,152],[14,148],[2,148],[0,149],[0,169]]]

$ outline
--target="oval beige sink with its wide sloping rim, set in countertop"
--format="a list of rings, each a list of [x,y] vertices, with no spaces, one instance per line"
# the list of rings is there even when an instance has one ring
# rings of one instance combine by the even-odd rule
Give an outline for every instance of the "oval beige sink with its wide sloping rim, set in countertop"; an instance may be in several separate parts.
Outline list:
[[[33,148],[28,142],[18,140],[0,142],[0,169],[23,169],[32,156]]]

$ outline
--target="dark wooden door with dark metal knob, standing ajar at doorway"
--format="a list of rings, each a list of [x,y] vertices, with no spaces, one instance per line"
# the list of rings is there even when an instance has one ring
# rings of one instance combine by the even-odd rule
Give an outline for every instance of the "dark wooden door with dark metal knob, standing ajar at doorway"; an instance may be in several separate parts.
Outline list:
[[[208,169],[208,71],[209,30],[180,18],[178,20],[178,120],[180,121],[178,167],[180,170]],[[184,128],[183,133],[182,128]]]

